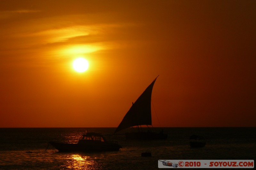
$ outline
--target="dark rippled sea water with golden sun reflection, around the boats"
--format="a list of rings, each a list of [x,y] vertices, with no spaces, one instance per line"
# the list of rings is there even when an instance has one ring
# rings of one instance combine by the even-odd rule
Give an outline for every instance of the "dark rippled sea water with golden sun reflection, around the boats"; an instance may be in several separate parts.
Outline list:
[[[0,128],[0,169],[158,169],[158,160],[255,160],[256,128],[155,128],[167,140],[125,140],[115,128]],[[49,141],[76,143],[84,131],[105,134],[123,148],[114,152],[58,152]],[[126,129],[129,131],[131,129]],[[125,131],[121,131],[124,133]],[[206,139],[191,148],[189,137]],[[48,146],[48,148],[47,148]],[[46,150],[47,148],[47,150]],[[151,152],[151,157],[141,157]]]

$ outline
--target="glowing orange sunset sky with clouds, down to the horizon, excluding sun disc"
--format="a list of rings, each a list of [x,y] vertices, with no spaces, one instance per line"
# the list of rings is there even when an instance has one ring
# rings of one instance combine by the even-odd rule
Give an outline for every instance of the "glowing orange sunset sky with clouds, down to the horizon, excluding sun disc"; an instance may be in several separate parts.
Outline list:
[[[1,0],[0,127],[117,127],[157,75],[153,126],[255,127],[255,9]],[[77,73],[81,56],[90,65]]]

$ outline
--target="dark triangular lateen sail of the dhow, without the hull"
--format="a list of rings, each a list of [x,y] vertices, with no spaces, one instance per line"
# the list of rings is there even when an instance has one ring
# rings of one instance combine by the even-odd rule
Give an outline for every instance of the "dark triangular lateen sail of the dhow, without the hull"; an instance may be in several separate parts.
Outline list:
[[[158,76],[157,76],[158,77]],[[156,78],[157,78],[156,77]],[[122,122],[116,128],[116,132],[137,125],[152,125],[151,121],[151,93],[155,80],[146,88],[140,97],[133,103],[130,110],[124,116]]]

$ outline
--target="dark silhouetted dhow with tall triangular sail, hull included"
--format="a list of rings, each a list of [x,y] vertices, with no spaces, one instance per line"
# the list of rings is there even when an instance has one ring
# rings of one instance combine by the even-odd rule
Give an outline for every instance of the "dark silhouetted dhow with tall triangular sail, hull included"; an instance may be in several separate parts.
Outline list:
[[[158,77],[158,76],[157,76]],[[157,78],[156,77],[156,78]],[[146,88],[146,90],[140,95],[140,97],[132,103],[132,107],[124,116],[122,122],[116,128],[116,132],[136,126],[137,132],[125,133],[125,138],[128,140],[131,139],[167,139],[167,134],[163,131],[156,133],[148,129],[147,132],[143,132],[142,128],[140,130],[139,126],[141,125],[152,125],[151,121],[151,93],[154,86],[154,81]]]

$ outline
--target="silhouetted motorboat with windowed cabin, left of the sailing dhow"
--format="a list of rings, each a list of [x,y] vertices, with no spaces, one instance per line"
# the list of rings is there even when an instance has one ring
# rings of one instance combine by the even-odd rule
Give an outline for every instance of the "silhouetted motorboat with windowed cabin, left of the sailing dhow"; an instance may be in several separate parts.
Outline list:
[[[83,134],[78,143],[49,142],[60,152],[94,152],[94,151],[118,151],[122,146],[114,142],[108,142],[104,136],[95,132]]]

